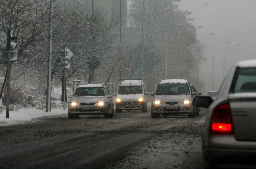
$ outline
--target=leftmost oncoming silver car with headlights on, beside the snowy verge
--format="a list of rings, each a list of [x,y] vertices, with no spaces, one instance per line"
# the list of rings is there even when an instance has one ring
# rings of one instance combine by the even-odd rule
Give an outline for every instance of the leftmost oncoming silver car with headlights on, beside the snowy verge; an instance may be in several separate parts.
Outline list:
[[[113,96],[104,84],[80,85],[69,98],[69,119],[100,114],[105,118],[114,117]]]

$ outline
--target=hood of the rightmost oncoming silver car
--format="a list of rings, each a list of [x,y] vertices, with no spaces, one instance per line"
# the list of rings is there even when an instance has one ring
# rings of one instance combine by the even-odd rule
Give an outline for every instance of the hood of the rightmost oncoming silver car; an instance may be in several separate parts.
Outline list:
[[[155,95],[154,100],[160,100],[163,102],[169,101],[183,101],[190,100],[192,97],[190,94],[179,94],[179,95]]]

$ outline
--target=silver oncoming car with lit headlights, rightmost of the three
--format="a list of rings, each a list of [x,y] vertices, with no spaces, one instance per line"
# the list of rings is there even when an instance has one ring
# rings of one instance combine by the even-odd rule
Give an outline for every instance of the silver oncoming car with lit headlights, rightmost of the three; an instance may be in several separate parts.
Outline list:
[[[151,104],[151,118],[159,118],[160,115],[188,115],[193,118],[199,114],[199,109],[192,105],[194,96],[187,80],[166,79],[162,80],[156,89]]]

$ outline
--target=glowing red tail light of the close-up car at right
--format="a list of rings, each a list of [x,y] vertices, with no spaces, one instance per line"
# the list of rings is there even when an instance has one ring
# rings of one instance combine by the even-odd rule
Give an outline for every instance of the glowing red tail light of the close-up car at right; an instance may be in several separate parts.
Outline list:
[[[233,134],[229,104],[218,105],[214,108],[211,119],[210,133]]]

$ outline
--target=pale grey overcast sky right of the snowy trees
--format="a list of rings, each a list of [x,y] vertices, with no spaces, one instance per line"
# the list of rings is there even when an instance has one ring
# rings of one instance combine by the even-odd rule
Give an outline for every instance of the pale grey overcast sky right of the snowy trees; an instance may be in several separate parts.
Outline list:
[[[218,90],[223,79],[226,50],[230,51],[226,58],[227,70],[238,60],[256,58],[256,0],[181,0],[177,4],[180,10],[192,12],[190,18],[195,20],[191,22],[196,27],[202,25],[197,29],[198,40],[214,33],[200,40],[206,46],[204,57],[207,59],[200,66],[199,78],[205,82],[201,92],[206,94],[212,90],[213,53],[213,90]],[[227,41],[230,43],[224,43]],[[235,46],[238,44],[241,46]]]

